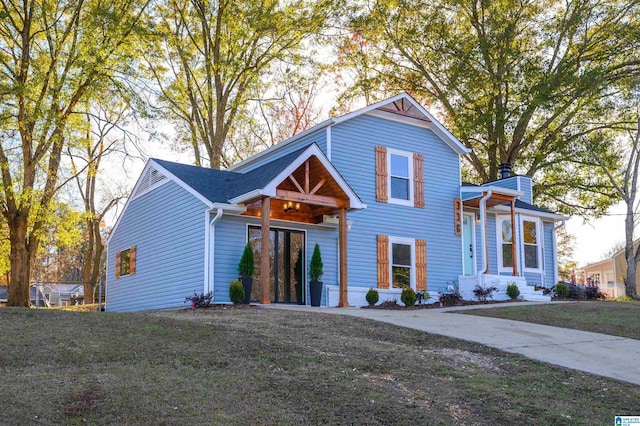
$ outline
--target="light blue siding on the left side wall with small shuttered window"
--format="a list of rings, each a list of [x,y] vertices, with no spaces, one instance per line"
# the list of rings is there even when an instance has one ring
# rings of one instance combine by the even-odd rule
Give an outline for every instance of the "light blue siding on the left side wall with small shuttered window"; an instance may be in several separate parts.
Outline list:
[[[174,182],[129,202],[108,247],[107,310],[184,306],[204,288],[206,206]],[[115,278],[116,252],[136,246],[136,273]]]

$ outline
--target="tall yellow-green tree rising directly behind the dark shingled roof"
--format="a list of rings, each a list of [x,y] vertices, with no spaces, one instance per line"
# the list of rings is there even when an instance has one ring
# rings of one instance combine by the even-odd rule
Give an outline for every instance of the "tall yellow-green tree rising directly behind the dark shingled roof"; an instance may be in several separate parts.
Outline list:
[[[145,49],[165,117],[196,165],[229,165],[225,142],[278,62],[297,63],[336,0],[167,0]]]

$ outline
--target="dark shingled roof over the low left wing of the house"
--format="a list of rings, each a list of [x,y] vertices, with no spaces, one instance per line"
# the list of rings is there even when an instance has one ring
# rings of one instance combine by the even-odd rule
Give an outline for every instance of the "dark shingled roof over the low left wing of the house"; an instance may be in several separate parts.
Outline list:
[[[309,145],[246,173],[189,166],[156,158],[153,161],[212,203],[226,203],[242,194],[264,188],[308,147]]]

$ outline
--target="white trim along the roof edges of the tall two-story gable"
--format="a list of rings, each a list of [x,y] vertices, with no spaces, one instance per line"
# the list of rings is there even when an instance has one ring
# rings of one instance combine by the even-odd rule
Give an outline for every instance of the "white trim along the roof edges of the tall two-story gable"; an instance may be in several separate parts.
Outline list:
[[[317,124],[303,132],[298,133],[297,135],[294,135],[292,137],[290,137],[289,139],[285,139],[282,142],[279,142],[276,145],[273,145],[267,149],[265,149],[264,151],[247,158],[246,160],[243,160],[239,163],[236,163],[232,166],[230,166],[229,168],[227,168],[228,171],[234,171],[237,169],[240,169],[244,166],[248,166],[252,163],[254,163],[255,161],[259,160],[260,158],[274,152],[277,150],[280,150],[281,148],[284,148],[285,146],[288,146],[298,140],[300,140],[301,138],[308,136],[316,131],[322,130],[323,128],[327,127],[327,126],[332,126],[334,124],[339,124],[339,123],[344,123],[345,121],[351,120],[352,118],[358,117],[360,115],[366,114],[368,112],[374,111],[380,107],[383,107],[387,104],[390,104],[392,102],[398,101],[400,99],[405,99],[407,101],[409,101],[409,103],[411,103],[422,115],[425,116],[425,118],[427,118],[429,121],[431,121],[431,124],[429,126],[429,128],[436,134],[438,135],[447,145],[449,145],[449,147],[451,149],[453,149],[458,155],[465,155],[471,152],[471,149],[467,148],[466,146],[464,146],[462,144],[462,142],[460,142],[458,139],[456,139],[455,136],[453,136],[453,134],[451,134],[451,132],[449,132],[442,124],[440,124],[440,122],[438,120],[436,120],[431,114],[429,114],[429,112],[424,109],[424,107],[422,105],[420,105],[415,99],[413,99],[408,93],[403,92],[400,93],[396,96],[393,96],[391,98],[382,100],[380,102],[377,102],[375,104],[372,105],[368,105],[364,108],[360,108],[356,111],[352,111],[348,114],[345,114],[341,117],[337,117],[337,118],[330,118],[328,120],[323,121],[320,124]]]

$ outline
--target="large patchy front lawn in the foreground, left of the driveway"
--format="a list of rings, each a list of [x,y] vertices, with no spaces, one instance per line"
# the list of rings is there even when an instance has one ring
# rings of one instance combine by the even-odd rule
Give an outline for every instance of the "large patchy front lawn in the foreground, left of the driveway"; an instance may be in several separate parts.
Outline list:
[[[640,387],[481,345],[275,309],[0,309],[12,424],[610,424]]]

